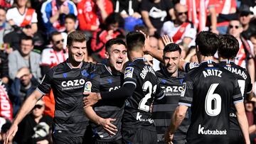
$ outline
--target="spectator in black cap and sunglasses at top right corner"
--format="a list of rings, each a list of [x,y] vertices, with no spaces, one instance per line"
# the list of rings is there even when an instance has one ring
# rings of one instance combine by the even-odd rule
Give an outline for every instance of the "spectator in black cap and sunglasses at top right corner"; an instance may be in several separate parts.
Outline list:
[[[246,40],[250,39],[252,33],[256,33],[256,24],[252,20],[252,11],[249,6],[241,5],[239,8],[239,21],[242,24],[242,37]]]

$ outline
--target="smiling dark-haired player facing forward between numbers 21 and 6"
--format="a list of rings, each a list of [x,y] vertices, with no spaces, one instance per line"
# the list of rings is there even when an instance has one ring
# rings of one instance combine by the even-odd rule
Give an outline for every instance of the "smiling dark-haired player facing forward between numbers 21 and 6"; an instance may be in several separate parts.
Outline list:
[[[181,48],[175,44],[170,43],[164,48],[164,67],[156,72],[156,76],[159,77],[160,86],[164,90],[164,101],[154,101],[153,105],[153,119],[156,124],[156,133],[158,143],[164,143],[164,133],[167,130],[170,118],[178,106],[178,100],[181,97],[183,89],[183,79],[185,72],[178,71],[178,65],[181,60]],[[178,131],[174,133],[174,143],[186,143],[186,132],[190,120],[188,113],[181,126],[178,127]]]

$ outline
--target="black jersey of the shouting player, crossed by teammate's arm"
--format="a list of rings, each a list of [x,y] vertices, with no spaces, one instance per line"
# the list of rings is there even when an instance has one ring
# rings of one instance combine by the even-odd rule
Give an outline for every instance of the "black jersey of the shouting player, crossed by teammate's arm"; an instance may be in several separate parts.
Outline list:
[[[110,72],[106,65],[97,64],[95,72],[91,73],[92,92],[111,92],[119,89],[122,83],[123,74],[120,72]],[[102,118],[115,118],[112,124],[117,126],[116,135],[109,135],[105,129],[95,123],[90,122],[95,138],[100,141],[112,141],[122,138],[121,125],[122,114],[124,113],[124,100],[112,99],[98,101],[93,106],[95,113]]]

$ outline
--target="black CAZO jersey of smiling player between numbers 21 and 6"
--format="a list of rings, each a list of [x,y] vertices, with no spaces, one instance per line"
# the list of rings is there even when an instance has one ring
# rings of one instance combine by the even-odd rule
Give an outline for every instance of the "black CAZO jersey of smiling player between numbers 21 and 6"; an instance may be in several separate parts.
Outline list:
[[[166,68],[162,68],[156,72],[156,76],[159,78],[161,89],[164,89],[165,97],[162,100],[154,101],[152,115],[156,124],[157,140],[163,143],[164,133],[171,123],[171,116],[178,106],[181,92],[184,91],[183,79],[185,72],[178,72],[178,77],[170,77]],[[187,112],[181,126],[178,126],[178,130],[174,133],[174,143],[176,140],[186,140],[189,124],[190,120]]]

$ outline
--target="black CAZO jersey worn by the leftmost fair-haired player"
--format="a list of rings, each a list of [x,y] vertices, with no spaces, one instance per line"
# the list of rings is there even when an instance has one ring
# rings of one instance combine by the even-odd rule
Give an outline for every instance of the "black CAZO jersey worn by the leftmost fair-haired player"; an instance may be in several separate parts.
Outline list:
[[[65,131],[73,136],[85,133],[88,119],[82,104],[85,82],[90,77],[90,71],[95,65],[82,62],[80,68],[70,68],[67,61],[51,68],[46,72],[37,90],[48,94],[53,89],[55,99],[54,130]]]

